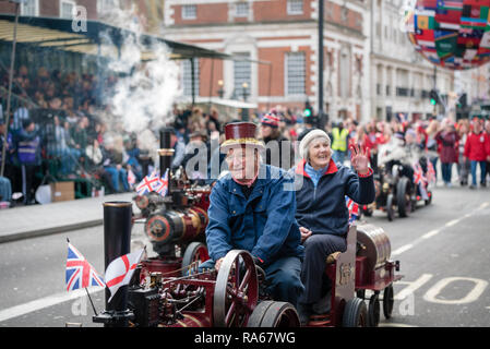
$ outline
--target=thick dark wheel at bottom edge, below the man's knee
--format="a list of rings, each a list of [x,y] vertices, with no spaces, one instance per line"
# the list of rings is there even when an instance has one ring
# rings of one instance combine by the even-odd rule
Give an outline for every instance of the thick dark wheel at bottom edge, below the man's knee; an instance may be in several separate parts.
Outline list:
[[[299,327],[299,315],[287,302],[262,301],[253,310],[247,327]]]

